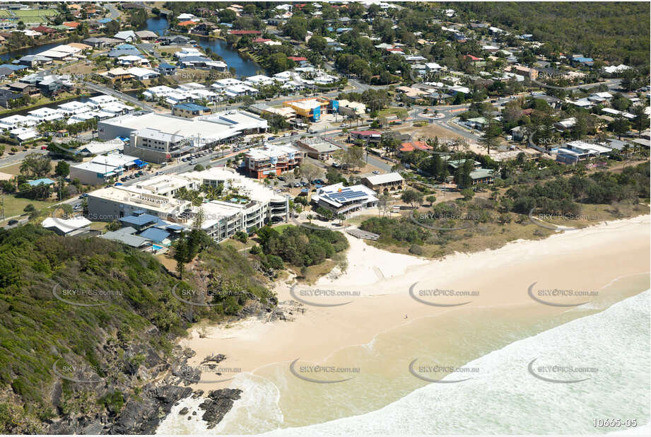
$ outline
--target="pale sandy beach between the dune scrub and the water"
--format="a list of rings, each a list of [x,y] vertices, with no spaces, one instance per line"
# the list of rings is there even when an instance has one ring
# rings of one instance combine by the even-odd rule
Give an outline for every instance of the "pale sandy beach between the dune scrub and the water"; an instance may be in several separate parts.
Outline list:
[[[230,327],[202,327],[181,344],[197,352],[189,365],[198,365],[211,354],[225,354],[220,367],[256,373],[298,358],[322,363],[342,348],[370,344],[382,332],[425,317],[443,322],[454,316],[472,323],[478,310],[500,310],[536,320],[571,310],[534,301],[528,293],[534,283],[536,291],[583,293],[541,298],[549,302],[597,304],[606,299],[610,304],[627,296],[604,296],[607,293],[600,290],[616,279],[649,272],[650,223],[650,216],[639,216],[442,260],[392,254],[347,235],[351,249],[345,274],[326,276],[312,287],[295,286],[293,291],[292,284],[276,286],[279,301],[298,296],[317,304],[305,303],[305,313],[294,314],[293,322],[247,320]],[[202,377],[211,378],[215,377]],[[196,388],[226,386],[200,383]]]

